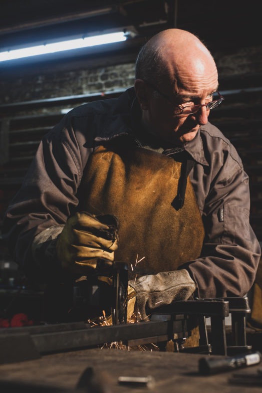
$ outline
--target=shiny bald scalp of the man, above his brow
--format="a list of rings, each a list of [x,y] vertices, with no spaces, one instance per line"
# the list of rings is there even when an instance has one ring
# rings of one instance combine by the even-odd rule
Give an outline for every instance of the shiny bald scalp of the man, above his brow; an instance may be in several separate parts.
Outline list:
[[[180,29],[164,30],[152,37],[141,49],[136,64],[136,79],[158,87],[171,84],[174,92],[210,72],[212,77],[217,75],[210,52],[196,36]]]

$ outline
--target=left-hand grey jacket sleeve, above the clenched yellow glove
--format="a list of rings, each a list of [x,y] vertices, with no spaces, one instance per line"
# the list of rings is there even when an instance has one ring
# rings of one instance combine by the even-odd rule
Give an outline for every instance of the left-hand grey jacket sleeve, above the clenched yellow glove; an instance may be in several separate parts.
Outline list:
[[[87,153],[89,150],[86,149]],[[3,238],[8,240],[15,262],[27,275],[39,275],[31,250],[36,235],[50,227],[61,228],[77,206],[82,171],[83,160],[72,118],[66,116],[41,141],[4,218]]]

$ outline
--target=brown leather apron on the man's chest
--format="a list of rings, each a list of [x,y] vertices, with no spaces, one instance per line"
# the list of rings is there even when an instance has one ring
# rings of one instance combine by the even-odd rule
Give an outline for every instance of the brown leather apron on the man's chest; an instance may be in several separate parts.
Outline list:
[[[78,211],[118,217],[115,260],[134,267],[143,258],[139,275],[173,271],[200,255],[204,228],[189,176],[184,206],[177,211],[171,205],[180,169],[173,158],[123,137],[99,146],[88,160]]]

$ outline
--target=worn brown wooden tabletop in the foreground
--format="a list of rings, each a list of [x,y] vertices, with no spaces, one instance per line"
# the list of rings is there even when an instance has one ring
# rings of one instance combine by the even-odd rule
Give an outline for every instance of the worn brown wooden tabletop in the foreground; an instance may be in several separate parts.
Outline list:
[[[261,393],[261,387],[228,383],[232,372],[212,376],[198,374],[198,360],[202,355],[160,351],[119,349],[86,349],[42,356],[37,360],[0,365],[0,380],[23,381],[45,386],[75,389],[81,374],[93,367],[98,380],[112,392],[163,393]],[[261,366],[260,366],[261,367]],[[259,365],[238,369],[241,374],[256,372]],[[118,384],[119,376],[147,376],[155,378],[152,389]]]

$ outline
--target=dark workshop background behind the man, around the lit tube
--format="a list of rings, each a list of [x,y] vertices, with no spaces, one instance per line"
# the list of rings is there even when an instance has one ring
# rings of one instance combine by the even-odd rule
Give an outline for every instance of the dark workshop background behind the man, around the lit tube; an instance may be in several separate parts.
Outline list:
[[[136,31],[103,47],[0,63],[0,230],[39,141],[70,108],[132,86],[141,46],[177,27],[196,34],[219,72],[223,105],[210,121],[237,148],[250,176],[251,225],[262,241],[262,44],[259,1],[2,0],[0,52],[107,29]],[[0,240],[0,267],[13,262]]]

